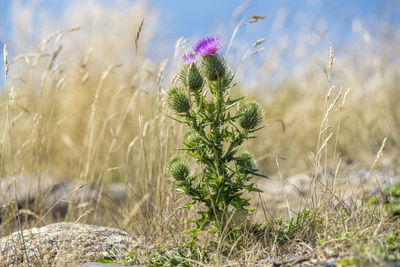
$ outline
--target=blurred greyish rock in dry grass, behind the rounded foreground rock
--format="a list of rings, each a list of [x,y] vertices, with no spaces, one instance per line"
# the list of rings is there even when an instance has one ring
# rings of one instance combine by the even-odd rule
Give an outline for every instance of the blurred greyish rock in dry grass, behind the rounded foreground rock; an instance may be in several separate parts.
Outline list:
[[[67,214],[70,204],[84,205],[98,199],[100,191],[93,184],[79,184],[65,177],[52,175],[19,175],[15,178],[0,179],[0,214],[7,203],[15,200],[16,183],[17,204],[19,209],[35,212],[47,212],[62,218]],[[126,197],[126,187],[122,184],[106,185],[103,199],[120,204]],[[1,216],[0,216],[1,222]]]

